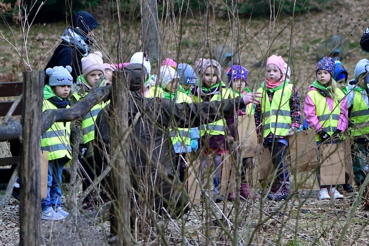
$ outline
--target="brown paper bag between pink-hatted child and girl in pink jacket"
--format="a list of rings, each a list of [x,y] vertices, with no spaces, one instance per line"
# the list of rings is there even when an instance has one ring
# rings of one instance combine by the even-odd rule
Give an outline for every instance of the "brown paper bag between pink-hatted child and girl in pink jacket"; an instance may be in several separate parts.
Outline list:
[[[291,167],[291,173],[296,174],[315,170],[318,166],[315,131],[305,130],[296,132],[288,138],[289,155],[286,159]]]

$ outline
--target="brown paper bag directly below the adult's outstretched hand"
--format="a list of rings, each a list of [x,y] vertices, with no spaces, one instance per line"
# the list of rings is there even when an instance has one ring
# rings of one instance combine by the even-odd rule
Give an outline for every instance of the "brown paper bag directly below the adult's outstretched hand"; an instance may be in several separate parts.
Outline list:
[[[257,154],[257,134],[254,115],[243,115],[237,118],[237,132],[241,156],[253,157]]]

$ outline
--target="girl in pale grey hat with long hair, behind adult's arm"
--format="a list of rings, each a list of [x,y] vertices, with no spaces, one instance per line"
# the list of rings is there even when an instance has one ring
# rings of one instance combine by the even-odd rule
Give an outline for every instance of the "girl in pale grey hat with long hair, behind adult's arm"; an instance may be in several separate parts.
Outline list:
[[[199,83],[192,90],[195,102],[220,101],[230,98],[230,90],[227,89],[220,79],[220,69],[220,64],[213,59],[207,59],[202,63]],[[231,134],[228,134],[226,120],[202,125],[200,136],[202,145],[206,146],[205,154],[212,154],[214,157],[215,177],[213,179],[213,191],[218,195],[221,154],[228,153],[226,141],[232,141],[233,138]],[[204,170],[206,162],[206,159],[201,162],[201,170]]]

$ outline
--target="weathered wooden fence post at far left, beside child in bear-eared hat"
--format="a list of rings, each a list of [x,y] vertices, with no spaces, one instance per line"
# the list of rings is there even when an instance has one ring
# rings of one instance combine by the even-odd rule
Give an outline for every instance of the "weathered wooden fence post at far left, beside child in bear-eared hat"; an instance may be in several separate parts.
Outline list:
[[[40,141],[44,71],[23,72],[20,245],[41,245]]]

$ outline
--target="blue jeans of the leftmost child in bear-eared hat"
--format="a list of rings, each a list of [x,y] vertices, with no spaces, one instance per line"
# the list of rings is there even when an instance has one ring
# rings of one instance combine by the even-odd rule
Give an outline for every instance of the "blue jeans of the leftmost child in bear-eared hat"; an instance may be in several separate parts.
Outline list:
[[[69,161],[68,158],[59,158],[49,160],[49,168],[47,172],[47,198],[41,199],[41,210],[44,211],[49,207],[61,207],[62,189],[62,171],[64,165]]]

